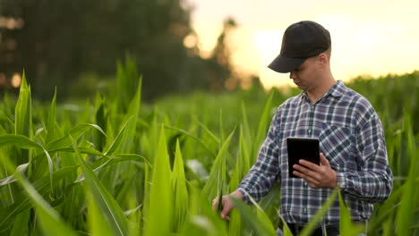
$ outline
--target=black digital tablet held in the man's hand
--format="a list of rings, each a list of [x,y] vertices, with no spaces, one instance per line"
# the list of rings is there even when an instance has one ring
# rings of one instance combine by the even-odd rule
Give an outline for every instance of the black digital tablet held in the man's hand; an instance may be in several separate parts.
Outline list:
[[[289,137],[286,138],[286,148],[290,178],[299,178],[293,174],[293,165],[298,164],[300,159],[320,165],[319,139]]]

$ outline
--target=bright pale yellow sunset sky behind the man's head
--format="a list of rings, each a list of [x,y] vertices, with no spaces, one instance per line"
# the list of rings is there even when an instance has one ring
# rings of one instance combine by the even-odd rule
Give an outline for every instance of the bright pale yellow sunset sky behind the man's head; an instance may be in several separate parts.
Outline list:
[[[233,63],[239,71],[259,74],[267,88],[292,84],[288,74],[266,66],[278,55],[286,27],[303,20],[317,21],[329,30],[337,80],[419,70],[417,0],[185,1],[194,6],[192,25],[203,54],[216,44],[222,22],[234,17],[239,28],[230,45]]]

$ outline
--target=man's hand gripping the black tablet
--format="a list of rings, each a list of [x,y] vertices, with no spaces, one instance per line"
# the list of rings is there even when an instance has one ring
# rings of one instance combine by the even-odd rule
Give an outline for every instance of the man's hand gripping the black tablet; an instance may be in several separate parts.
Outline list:
[[[293,172],[296,176],[303,178],[314,189],[333,189],[337,185],[338,174],[330,167],[328,159],[320,154],[321,165],[300,159],[295,164]]]

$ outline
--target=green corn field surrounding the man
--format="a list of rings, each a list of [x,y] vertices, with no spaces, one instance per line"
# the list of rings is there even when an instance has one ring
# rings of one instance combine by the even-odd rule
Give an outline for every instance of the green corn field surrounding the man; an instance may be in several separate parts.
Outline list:
[[[369,235],[419,235],[419,72],[346,83],[367,97],[386,132],[394,189],[374,207]],[[276,107],[299,93],[261,88],[141,103],[134,63],[95,101],[43,104],[24,76],[0,103],[0,235],[276,235],[279,188],[224,221],[211,201],[237,187],[257,158]],[[363,232],[335,190],[340,232]],[[285,235],[291,233],[285,227]]]

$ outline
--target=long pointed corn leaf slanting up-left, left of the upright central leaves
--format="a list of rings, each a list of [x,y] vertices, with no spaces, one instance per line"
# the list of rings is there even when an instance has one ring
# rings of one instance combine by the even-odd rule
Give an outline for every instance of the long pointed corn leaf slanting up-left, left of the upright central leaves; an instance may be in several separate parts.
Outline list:
[[[71,135],[69,135],[69,139],[72,141],[77,160],[81,165],[81,170],[84,173],[89,190],[91,191],[93,198],[95,198],[102,214],[106,216],[107,222],[111,225],[114,234],[127,235],[128,220],[124,216],[123,210],[98,180],[98,176],[90,169],[90,166],[85,163],[81,157],[79,148]]]

